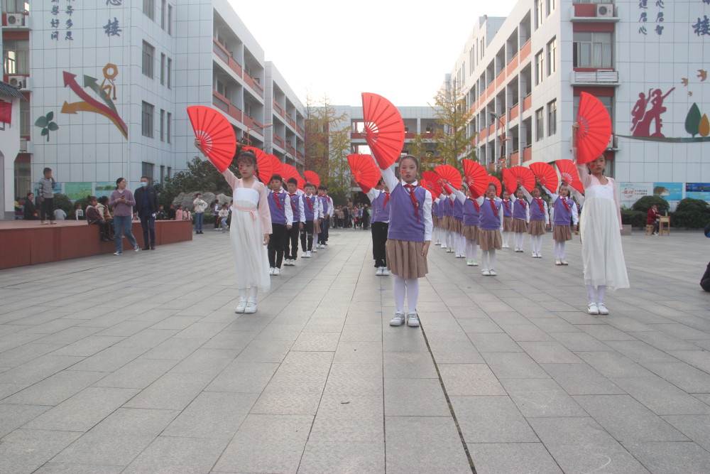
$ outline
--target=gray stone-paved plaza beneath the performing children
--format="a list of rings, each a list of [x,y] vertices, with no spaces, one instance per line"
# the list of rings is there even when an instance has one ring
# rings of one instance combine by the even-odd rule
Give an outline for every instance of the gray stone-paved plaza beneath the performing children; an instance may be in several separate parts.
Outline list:
[[[609,316],[577,240],[496,277],[432,247],[421,329],[388,325],[369,232],[253,315],[228,239],[0,271],[0,473],[710,472],[701,232],[623,237]]]

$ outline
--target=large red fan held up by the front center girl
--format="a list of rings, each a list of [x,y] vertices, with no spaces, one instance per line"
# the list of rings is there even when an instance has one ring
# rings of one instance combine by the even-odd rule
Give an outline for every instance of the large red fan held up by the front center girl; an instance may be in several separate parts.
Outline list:
[[[404,122],[397,107],[381,95],[362,93],[365,140],[382,169],[398,160],[404,147]]]

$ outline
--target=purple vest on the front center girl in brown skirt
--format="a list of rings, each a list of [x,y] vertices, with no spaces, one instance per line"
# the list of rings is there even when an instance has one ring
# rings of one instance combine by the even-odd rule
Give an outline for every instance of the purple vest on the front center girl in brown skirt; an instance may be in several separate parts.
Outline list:
[[[424,242],[424,201],[427,190],[417,186],[414,197],[417,200],[415,214],[414,204],[407,190],[400,183],[390,193],[390,227],[388,239],[408,240],[409,242]],[[417,222],[417,216],[419,222]]]

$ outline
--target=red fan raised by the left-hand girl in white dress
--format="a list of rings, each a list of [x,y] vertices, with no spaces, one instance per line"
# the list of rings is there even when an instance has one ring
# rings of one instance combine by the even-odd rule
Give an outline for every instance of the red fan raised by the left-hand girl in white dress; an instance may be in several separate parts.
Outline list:
[[[204,105],[187,107],[187,117],[190,117],[192,130],[200,140],[204,154],[220,173],[224,172],[229,168],[236,151],[234,128],[224,115]]]

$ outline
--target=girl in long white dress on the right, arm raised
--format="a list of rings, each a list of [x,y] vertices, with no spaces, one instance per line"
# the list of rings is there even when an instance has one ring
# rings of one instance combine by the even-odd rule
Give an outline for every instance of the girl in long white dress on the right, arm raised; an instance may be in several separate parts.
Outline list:
[[[572,124],[572,151],[577,158],[577,131]],[[606,289],[628,288],[626,263],[621,249],[621,208],[616,182],[604,176],[603,154],[589,163],[577,163],[584,184],[581,209],[581,257],[584,284],[589,298],[589,314],[608,314],[604,305]]]

